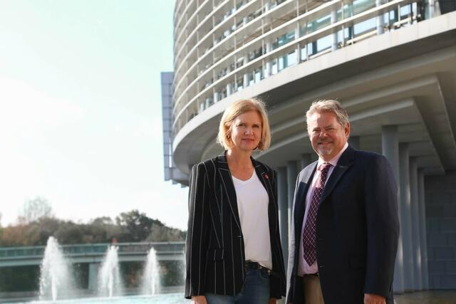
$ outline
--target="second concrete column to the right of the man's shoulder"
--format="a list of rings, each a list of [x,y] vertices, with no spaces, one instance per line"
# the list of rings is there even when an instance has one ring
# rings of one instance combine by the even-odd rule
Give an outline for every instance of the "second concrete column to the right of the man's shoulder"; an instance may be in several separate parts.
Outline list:
[[[400,229],[402,230],[404,254],[404,290],[415,290],[412,247],[412,218],[410,216],[410,169],[408,143],[399,144],[400,174]]]

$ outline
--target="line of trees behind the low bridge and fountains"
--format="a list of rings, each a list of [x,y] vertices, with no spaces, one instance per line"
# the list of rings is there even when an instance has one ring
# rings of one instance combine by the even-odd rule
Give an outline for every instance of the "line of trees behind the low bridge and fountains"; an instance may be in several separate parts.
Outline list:
[[[166,226],[138,210],[111,219],[103,216],[88,223],[75,223],[53,216],[46,199],[26,201],[14,225],[0,226],[0,247],[44,246],[49,236],[61,244],[185,241],[186,231]]]

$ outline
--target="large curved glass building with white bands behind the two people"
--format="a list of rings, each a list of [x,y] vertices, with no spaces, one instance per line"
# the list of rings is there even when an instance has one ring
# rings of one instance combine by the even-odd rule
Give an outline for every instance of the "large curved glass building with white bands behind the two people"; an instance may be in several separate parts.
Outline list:
[[[397,292],[456,288],[455,0],[177,0],[162,73],[165,179],[219,154],[224,108],[259,97],[279,172],[282,241],[296,175],[316,159],[304,113],[341,101],[353,147],[390,159],[400,188]]]

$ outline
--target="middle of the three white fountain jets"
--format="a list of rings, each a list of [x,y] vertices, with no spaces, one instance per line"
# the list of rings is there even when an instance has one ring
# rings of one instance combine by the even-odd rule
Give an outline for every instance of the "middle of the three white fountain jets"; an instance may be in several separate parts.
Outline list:
[[[110,246],[98,273],[98,295],[112,298],[123,294],[123,283],[120,277],[118,247]]]

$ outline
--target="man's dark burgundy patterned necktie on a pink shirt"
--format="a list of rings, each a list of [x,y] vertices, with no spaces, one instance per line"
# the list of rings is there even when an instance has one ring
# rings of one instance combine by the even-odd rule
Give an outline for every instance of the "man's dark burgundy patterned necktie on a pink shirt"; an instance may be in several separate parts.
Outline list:
[[[323,194],[323,189],[325,187],[326,177],[328,177],[329,168],[331,168],[331,164],[329,164],[328,162],[323,162],[323,164],[318,166],[318,171],[320,171],[320,175],[316,180],[314,193],[312,194],[311,199],[311,206],[309,206],[309,212],[307,214],[306,225],[304,226],[304,231],[302,233],[302,243],[304,245],[304,260],[306,260],[309,266],[312,266],[312,264],[316,260],[316,213],[318,211],[318,204],[320,203],[321,194]]]

